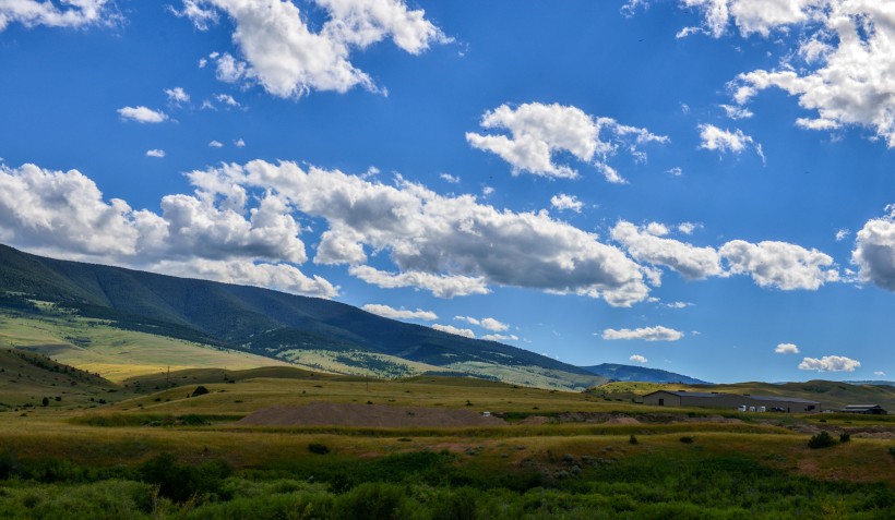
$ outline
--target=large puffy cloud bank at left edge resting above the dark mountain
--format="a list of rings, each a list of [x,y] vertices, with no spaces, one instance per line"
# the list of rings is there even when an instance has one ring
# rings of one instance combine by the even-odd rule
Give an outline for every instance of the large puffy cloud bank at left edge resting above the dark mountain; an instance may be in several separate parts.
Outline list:
[[[76,170],[0,165],[0,234],[38,254],[332,298],[329,281],[301,274],[300,226],[274,194],[247,207],[240,186],[167,195],[162,214],[103,199]]]

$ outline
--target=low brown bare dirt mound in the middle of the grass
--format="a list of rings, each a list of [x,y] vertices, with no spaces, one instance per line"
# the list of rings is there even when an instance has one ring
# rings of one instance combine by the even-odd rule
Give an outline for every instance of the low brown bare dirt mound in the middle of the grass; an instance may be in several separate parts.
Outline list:
[[[303,407],[271,407],[242,418],[244,426],[466,427],[505,426],[496,416],[472,410],[311,402]]]

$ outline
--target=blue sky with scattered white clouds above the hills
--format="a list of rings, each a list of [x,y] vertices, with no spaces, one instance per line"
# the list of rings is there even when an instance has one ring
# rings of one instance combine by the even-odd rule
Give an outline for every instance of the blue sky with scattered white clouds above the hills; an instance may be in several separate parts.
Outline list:
[[[895,2],[0,2],[0,242],[714,382],[895,373]]]

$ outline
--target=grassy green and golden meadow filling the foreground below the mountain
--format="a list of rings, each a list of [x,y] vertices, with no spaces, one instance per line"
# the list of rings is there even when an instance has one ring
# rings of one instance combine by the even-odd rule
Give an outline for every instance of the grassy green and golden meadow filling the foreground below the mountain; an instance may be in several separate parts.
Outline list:
[[[0,412],[1,518],[895,516],[895,440],[856,435],[811,449],[793,427],[895,425],[888,418],[724,412],[718,422],[717,410],[593,392],[282,366],[99,380],[79,385],[93,401]],[[200,386],[207,394],[194,395]],[[238,423],[321,401],[489,411],[506,424]]]

